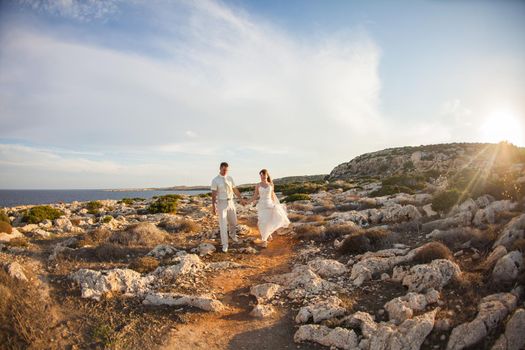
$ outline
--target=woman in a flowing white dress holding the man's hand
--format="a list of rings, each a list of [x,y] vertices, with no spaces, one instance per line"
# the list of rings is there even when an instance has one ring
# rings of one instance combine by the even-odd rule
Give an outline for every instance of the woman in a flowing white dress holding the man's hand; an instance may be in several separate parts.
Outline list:
[[[272,233],[281,227],[288,227],[290,220],[286,215],[286,210],[279,203],[275,195],[273,182],[268,170],[259,171],[261,182],[255,185],[251,202],[257,201],[257,226],[261,233],[262,246],[268,246],[268,239],[272,239]]]

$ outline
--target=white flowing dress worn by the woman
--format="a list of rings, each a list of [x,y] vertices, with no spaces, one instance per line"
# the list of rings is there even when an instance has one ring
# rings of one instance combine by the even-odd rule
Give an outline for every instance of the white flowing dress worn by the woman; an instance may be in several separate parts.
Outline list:
[[[257,226],[261,233],[261,239],[266,241],[268,237],[281,227],[288,227],[290,220],[286,215],[286,208],[276,199],[272,198],[272,185],[259,186],[259,202],[257,203]]]

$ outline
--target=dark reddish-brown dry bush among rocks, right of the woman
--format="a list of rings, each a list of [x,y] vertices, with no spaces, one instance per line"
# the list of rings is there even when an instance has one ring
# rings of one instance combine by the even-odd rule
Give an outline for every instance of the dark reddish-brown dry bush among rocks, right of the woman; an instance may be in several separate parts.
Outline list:
[[[346,237],[339,247],[340,254],[362,254],[392,246],[392,235],[381,228],[359,230]]]

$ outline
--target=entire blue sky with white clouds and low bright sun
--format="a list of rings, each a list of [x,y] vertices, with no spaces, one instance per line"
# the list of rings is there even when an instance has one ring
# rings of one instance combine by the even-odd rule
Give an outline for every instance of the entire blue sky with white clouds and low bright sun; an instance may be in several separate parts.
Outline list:
[[[327,174],[525,146],[525,1],[0,1],[0,188]]]

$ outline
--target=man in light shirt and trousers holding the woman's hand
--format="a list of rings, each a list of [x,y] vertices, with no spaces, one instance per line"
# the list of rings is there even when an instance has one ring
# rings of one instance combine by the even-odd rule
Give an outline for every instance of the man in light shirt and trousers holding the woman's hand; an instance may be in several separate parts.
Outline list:
[[[211,182],[211,203],[213,213],[219,217],[222,251],[225,253],[228,251],[228,227],[232,240],[237,242],[237,233],[235,232],[237,212],[233,201],[234,193],[244,205],[246,201],[241,197],[241,193],[235,187],[231,176],[228,176],[228,163],[222,162],[219,167],[219,175]]]

